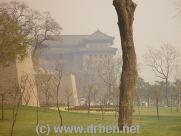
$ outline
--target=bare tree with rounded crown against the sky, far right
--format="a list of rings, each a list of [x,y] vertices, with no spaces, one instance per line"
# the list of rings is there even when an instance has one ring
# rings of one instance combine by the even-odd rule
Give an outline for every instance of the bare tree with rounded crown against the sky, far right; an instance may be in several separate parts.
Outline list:
[[[164,44],[160,49],[149,49],[145,55],[147,65],[153,70],[156,77],[165,81],[165,98],[166,104],[168,102],[168,83],[173,70],[176,67],[179,55],[177,50],[169,45]]]

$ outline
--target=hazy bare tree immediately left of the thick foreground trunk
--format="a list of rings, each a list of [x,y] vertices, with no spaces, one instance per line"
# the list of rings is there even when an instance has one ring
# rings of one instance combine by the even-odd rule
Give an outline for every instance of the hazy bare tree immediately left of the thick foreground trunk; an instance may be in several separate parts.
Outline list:
[[[115,107],[115,118],[117,117],[117,107],[119,99],[119,88],[117,81],[120,80],[122,58],[121,56],[107,56],[98,64],[98,75],[107,86],[108,104],[113,103]]]

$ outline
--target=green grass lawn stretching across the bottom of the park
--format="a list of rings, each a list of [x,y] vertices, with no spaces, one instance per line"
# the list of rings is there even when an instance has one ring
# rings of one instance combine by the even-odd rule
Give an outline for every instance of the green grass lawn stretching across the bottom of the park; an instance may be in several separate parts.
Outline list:
[[[160,120],[156,118],[155,108],[142,108],[141,117],[139,118],[137,108],[134,113],[134,124],[140,125],[140,133],[132,134],[134,136],[181,136],[181,112],[177,113],[175,109],[171,112],[169,108],[160,109]],[[0,120],[0,136],[10,136],[10,128],[12,123],[12,109],[5,107],[5,119]],[[87,126],[90,124],[98,125],[116,125],[113,113],[106,113],[104,120],[101,120],[101,114],[92,112],[88,115],[85,112],[66,112],[62,111],[64,125]],[[1,113],[0,113],[1,117]],[[56,110],[46,111],[40,108],[39,120],[42,124],[50,126],[58,125],[59,118]],[[36,136],[36,109],[33,107],[21,107],[15,126],[14,136]],[[131,134],[62,134],[63,136],[120,136]],[[56,136],[53,132],[49,136]]]

